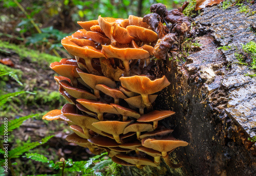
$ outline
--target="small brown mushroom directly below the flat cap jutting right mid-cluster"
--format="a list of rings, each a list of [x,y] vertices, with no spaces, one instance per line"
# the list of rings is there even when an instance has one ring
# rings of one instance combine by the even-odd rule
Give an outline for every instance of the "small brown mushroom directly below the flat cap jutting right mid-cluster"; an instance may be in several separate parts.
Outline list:
[[[140,139],[139,136],[142,131],[153,131],[153,130],[154,129],[153,129],[152,124],[137,122],[137,123],[133,123],[133,124],[127,126],[123,130],[123,134],[129,133],[129,132],[136,132],[137,139]]]

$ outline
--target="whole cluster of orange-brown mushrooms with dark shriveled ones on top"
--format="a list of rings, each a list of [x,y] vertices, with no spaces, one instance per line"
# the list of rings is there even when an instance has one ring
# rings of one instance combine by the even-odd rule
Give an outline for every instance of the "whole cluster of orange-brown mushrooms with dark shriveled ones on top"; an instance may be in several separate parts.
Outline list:
[[[163,157],[168,166],[177,168],[181,164],[170,161],[168,154],[188,143],[169,136],[173,130],[158,125],[175,112],[153,109],[154,94],[170,82],[165,76],[157,78],[152,58],[162,50],[163,42],[183,35],[183,27],[189,24],[181,12],[167,11],[162,4],[152,5],[151,11],[155,13],[144,18],[99,16],[79,21],[83,29],[61,41],[74,58],[50,65],[61,75],[54,79],[69,103],[43,119],[68,122],[74,133],[67,141],[88,147],[95,155],[107,151],[118,164],[157,167]],[[162,21],[173,26],[169,29]],[[163,29],[176,34],[165,34]]]

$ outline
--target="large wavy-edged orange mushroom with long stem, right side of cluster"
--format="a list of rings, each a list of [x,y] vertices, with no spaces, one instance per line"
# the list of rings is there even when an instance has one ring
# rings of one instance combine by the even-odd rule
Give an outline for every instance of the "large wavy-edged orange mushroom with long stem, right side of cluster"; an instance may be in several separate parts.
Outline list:
[[[142,96],[147,109],[153,108],[148,95],[159,92],[170,84],[165,76],[154,81],[146,76],[121,77],[120,81],[123,87]]]

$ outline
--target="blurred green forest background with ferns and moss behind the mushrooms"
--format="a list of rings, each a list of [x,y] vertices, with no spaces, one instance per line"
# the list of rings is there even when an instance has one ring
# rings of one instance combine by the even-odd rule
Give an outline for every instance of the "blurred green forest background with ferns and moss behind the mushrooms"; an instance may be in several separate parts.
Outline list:
[[[65,138],[71,130],[66,123],[41,120],[46,112],[67,103],[58,93],[57,74],[49,64],[70,58],[60,40],[81,28],[76,21],[97,19],[98,15],[143,17],[154,3],[171,10],[184,1],[0,0],[0,123],[4,118],[15,123],[21,119],[9,131],[10,170],[6,174],[1,167],[0,175],[120,174],[119,166],[108,157],[95,157],[89,150],[68,143]],[[4,151],[0,149],[0,153],[2,163]]]

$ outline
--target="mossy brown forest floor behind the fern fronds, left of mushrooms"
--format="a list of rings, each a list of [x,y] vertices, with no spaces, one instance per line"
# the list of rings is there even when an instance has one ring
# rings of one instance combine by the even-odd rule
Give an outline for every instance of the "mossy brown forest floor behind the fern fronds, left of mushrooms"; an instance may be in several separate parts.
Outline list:
[[[58,161],[62,157],[71,158],[73,161],[86,160],[91,157],[92,153],[89,150],[65,140],[66,136],[71,133],[66,122],[41,120],[48,111],[61,109],[62,105],[67,103],[66,99],[58,93],[58,86],[54,80],[54,76],[57,74],[49,68],[51,62],[59,61],[61,58],[29,50],[25,46],[16,46],[0,41],[1,59],[10,60],[13,65],[0,63],[0,70],[13,72],[23,85],[19,85],[8,75],[2,76],[0,77],[0,94],[17,91],[29,91],[34,94],[26,93],[10,98],[0,111],[0,118],[7,117],[8,120],[12,120],[39,114],[12,131],[9,137],[10,145],[15,147],[22,145],[25,141],[34,142],[55,135],[46,144],[30,150],[30,152],[43,154],[53,161]],[[22,175],[53,173],[52,169],[40,166],[40,163],[26,158],[17,158],[15,162],[17,162],[17,165],[14,166],[16,171]]]

